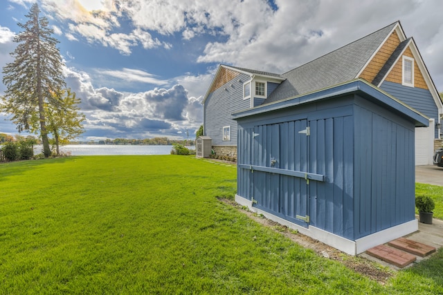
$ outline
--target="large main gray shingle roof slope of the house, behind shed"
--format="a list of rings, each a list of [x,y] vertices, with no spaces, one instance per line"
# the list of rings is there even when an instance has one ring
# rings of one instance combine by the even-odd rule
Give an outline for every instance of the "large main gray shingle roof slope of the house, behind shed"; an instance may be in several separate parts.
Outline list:
[[[280,75],[286,78],[263,104],[317,91],[356,78],[397,22]]]

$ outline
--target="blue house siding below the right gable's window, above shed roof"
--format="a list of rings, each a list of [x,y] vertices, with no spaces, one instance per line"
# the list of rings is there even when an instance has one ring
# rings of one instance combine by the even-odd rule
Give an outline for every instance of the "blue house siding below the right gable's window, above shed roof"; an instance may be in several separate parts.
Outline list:
[[[392,82],[383,82],[380,88],[390,95],[400,99],[408,106],[415,108],[417,111],[438,122],[438,108],[431,95],[431,92],[417,87],[408,87]],[[435,129],[435,138],[438,137],[437,129]]]

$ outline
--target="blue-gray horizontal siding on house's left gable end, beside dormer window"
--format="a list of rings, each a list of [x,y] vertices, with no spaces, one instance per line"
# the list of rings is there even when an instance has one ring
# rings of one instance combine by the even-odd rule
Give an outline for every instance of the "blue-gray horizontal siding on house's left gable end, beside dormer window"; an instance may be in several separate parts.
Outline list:
[[[249,79],[248,75],[238,75],[206,98],[204,134],[211,137],[213,145],[237,146],[237,121],[231,119],[231,114],[251,107],[251,100],[243,99],[243,83]],[[229,141],[223,140],[224,126],[230,126]]]

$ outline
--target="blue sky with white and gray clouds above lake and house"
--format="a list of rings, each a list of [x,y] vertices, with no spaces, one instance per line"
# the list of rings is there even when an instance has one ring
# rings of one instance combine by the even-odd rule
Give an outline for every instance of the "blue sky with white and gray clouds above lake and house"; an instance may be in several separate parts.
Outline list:
[[[1,68],[33,2],[0,1]],[[66,84],[82,99],[83,140],[191,138],[219,64],[284,73],[397,20],[443,91],[441,0],[38,3],[60,41]],[[0,114],[0,133],[17,133],[6,118]]]

